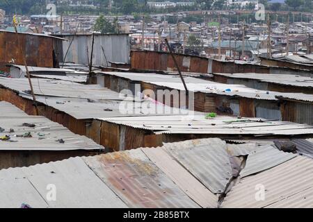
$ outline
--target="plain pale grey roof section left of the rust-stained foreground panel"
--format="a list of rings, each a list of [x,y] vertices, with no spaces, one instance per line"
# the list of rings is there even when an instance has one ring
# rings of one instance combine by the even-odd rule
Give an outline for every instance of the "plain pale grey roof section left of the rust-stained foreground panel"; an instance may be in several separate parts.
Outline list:
[[[56,200],[47,199],[56,187]],[[127,207],[81,157],[0,171],[0,207]]]

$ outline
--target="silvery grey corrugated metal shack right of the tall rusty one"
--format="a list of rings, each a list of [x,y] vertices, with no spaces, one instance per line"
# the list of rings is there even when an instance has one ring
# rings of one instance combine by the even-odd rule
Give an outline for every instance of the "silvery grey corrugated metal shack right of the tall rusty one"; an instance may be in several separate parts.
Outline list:
[[[117,62],[122,65],[129,64],[129,34],[56,36],[67,40],[58,49],[58,51],[62,51],[62,54],[58,55],[60,62],[89,65],[91,60],[90,55],[93,51],[93,65],[111,67],[112,63],[116,66]]]

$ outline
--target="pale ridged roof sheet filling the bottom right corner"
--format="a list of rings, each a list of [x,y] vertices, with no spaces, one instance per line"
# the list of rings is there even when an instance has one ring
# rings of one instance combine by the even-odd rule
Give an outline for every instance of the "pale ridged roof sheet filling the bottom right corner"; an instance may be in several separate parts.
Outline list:
[[[313,162],[297,156],[277,167],[240,180],[222,207],[313,207]],[[264,189],[264,200],[260,189]],[[257,197],[257,198],[256,198]]]

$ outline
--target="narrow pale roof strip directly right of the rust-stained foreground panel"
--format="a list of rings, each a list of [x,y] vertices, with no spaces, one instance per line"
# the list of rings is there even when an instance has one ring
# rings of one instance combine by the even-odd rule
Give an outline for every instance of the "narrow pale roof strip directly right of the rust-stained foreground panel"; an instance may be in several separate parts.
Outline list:
[[[182,165],[168,155],[163,148],[142,148],[142,151],[198,205],[204,208],[217,207],[218,196],[211,193],[207,187],[204,187]]]

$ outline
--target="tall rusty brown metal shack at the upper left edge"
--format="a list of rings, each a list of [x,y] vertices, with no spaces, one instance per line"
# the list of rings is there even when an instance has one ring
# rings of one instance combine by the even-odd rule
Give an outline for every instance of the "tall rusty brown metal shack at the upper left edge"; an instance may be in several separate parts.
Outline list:
[[[8,71],[8,63],[24,65],[24,59],[29,66],[58,67],[58,48],[63,41],[50,35],[0,31],[0,70]]]

